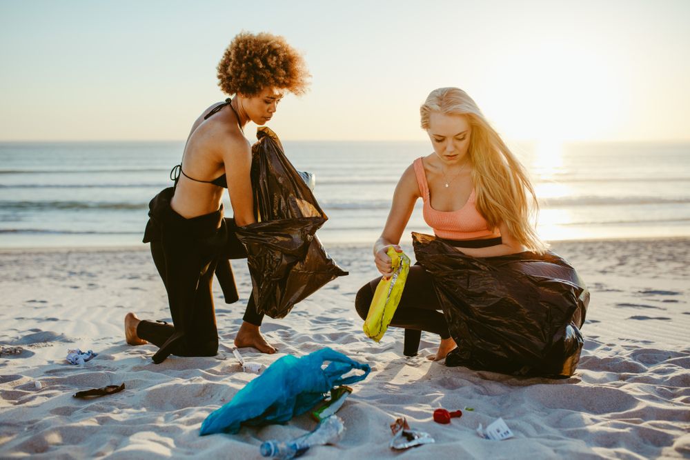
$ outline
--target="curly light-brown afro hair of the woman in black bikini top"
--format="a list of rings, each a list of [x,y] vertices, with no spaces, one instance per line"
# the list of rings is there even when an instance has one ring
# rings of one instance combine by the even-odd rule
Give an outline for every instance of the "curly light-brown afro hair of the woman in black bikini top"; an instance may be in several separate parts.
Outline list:
[[[302,55],[279,35],[241,32],[218,63],[218,86],[228,95],[252,97],[264,88],[304,94],[311,77]]]

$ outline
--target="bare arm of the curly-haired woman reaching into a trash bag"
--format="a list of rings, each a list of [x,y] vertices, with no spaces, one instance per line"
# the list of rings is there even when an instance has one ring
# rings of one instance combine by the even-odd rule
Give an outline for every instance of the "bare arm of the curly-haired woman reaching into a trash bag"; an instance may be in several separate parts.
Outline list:
[[[244,137],[231,137],[224,141],[223,163],[235,223],[240,227],[255,223],[254,192],[250,177],[252,149]]]

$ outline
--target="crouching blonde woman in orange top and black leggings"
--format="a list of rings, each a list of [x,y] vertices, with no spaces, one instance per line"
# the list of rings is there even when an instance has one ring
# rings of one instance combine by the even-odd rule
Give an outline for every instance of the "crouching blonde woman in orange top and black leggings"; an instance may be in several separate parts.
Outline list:
[[[473,257],[495,257],[546,245],[531,224],[537,208],[531,183],[511,150],[491,128],[469,95],[458,88],[438,88],[420,108],[433,153],[416,159],[395,188],[391,211],[373,252],[376,268],[391,275],[389,247],[398,244],[417,199],[424,201],[424,221],[436,237]],[[357,292],[355,307],[366,318],[381,278]],[[440,360],[456,347],[433,288],[433,277],[420,265],[411,267],[391,326],[406,329],[404,354],[416,354],[420,332],[440,335],[429,359]]]

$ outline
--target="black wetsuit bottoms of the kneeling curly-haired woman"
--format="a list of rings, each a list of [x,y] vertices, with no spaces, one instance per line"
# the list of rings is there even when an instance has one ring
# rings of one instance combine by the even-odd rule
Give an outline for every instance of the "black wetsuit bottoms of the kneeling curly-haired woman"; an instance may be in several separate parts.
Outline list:
[[[228,231],[234,223],[223,218],[222,206],[216,212],[185,219],[170,208],[171,197],[172,189],[168,188],[151,200],[150,219],[144,232],[144,242],[151,244],[153,261],[168,292],[173,322],[170,325],[141,321],[137,326],[141,339],[159,346],[153,356],[155,363],[170,354],[214,356],[217,353],[213,274],[219,261],[227,265],[224,259],[243,257],[244,252],[234,247],[237,238],[233,239],[234,233]],[[229,265],[226,272],[226,279],[232,279]],[[237,299],[237,292],[234,294],[230,301]],[[261,325],[263,314],[257,314],[251,299],[244,319]]]

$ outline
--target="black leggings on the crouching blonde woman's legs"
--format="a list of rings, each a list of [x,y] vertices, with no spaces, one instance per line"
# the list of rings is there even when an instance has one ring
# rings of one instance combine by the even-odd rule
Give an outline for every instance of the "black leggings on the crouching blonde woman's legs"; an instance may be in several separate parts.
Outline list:
[[[357,292],[355,308],[362,319],[366,319],[374,297],[376,286],[382,277],[378,277],[366,283]],[[440,312],[441,306],[436,298],[431,275],[422,266],[411,266],[407,275],[405,289],[402,291],[400,303],[397,305],[391,326],[405,328],[406,356],[414,356],[420,346],[422,330],[439,334],[442,339],[451,337],[448,324]]]

